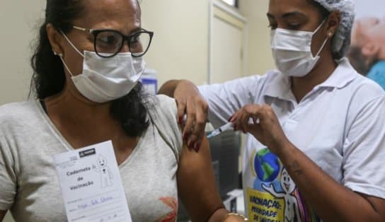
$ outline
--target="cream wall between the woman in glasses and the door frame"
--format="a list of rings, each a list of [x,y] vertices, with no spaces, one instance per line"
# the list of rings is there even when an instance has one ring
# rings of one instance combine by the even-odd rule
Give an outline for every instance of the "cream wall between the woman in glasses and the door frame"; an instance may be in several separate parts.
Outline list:
[[[142,0],[142,27],[155,32],[144,59],[159,86],[172,78],[207,81],[209,0]]]

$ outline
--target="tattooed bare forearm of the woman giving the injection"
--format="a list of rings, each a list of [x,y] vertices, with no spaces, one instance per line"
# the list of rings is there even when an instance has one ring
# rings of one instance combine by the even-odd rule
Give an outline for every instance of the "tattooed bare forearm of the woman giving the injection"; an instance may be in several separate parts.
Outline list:
[[[338,184],[294,145],[287,144],[277,156],[323,221],[384,221],[371,202]]]

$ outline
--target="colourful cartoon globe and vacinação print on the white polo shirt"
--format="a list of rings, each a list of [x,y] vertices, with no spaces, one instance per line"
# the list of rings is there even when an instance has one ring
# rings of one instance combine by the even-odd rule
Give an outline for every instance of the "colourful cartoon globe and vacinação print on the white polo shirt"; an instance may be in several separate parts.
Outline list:
[[[253,187],[246,188],[248,218],[263,222],[318,222],[280,160],[268,148],[251,153]],[[250,171],[249,171],[250,170]],[[248,183],[250,184],[250,183]]]

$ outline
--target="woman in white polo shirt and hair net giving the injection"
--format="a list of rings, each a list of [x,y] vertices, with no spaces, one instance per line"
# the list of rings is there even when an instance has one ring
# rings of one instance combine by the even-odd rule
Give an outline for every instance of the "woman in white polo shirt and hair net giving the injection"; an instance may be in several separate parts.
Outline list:
[[[159,93],[176,98],[179,119],[187,112],[184,138],[198,152],[207,108],[215,127],[248,133],[251,221],[385,221],[385,93],[345,59],[353,1],[269,3],[277,71],[199,88],[168,81]]]

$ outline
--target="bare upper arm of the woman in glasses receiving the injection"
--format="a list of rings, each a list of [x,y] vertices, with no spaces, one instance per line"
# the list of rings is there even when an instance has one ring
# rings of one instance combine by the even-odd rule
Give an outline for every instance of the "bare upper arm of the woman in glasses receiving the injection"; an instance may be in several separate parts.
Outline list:
[[[214,211],[224,208],[215,185],[207,139],[198,153],[183,147],[177,180],[179,197],[192,221],[207,221]]]

